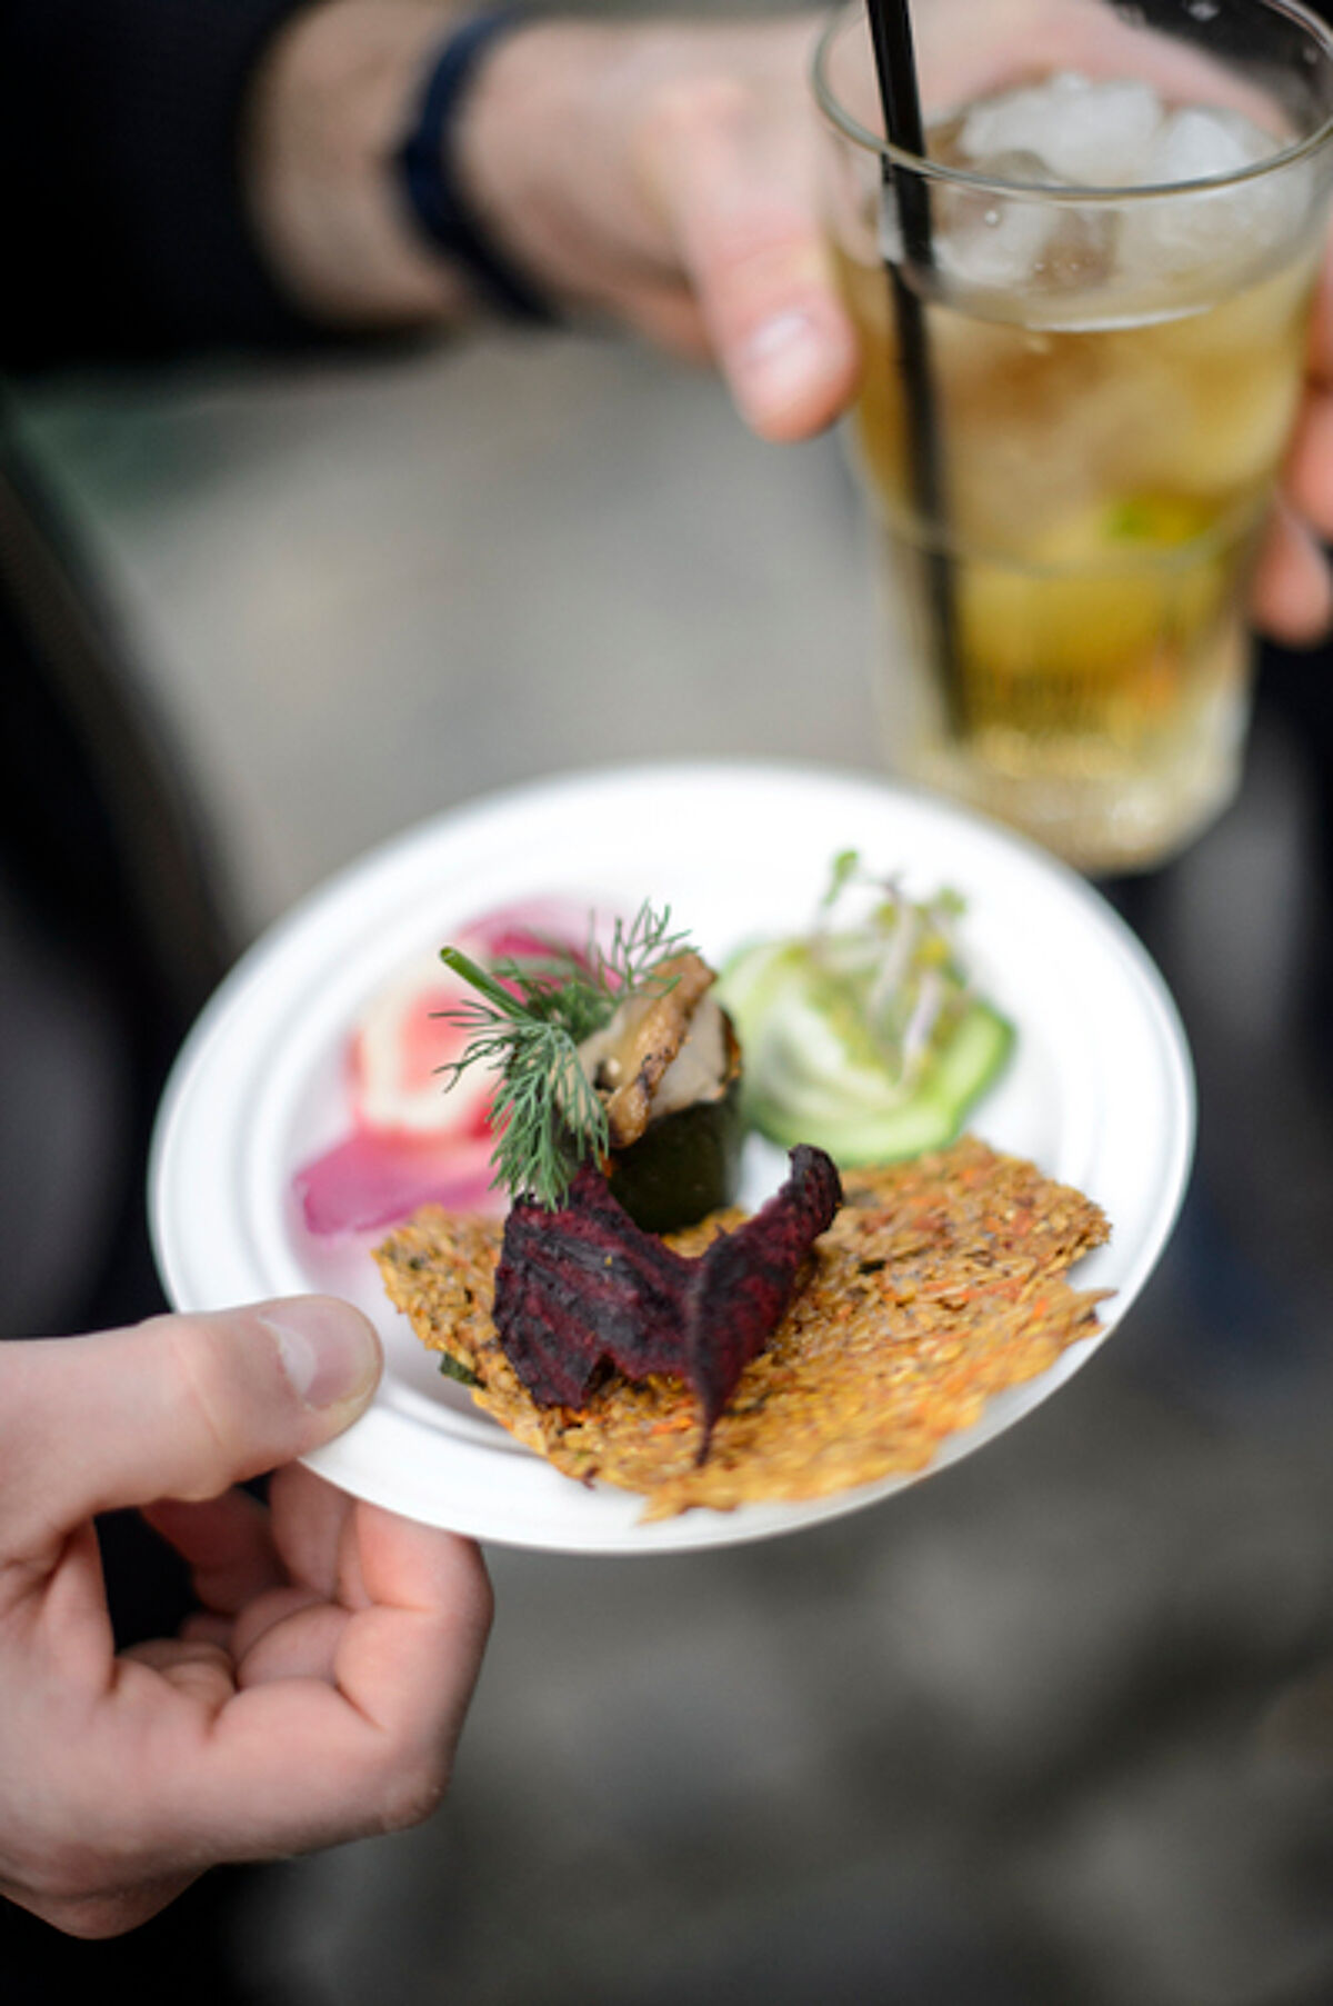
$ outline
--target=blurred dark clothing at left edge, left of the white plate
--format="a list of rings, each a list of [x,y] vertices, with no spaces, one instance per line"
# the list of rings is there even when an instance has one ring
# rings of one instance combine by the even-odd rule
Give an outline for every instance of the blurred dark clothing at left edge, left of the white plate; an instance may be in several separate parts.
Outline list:
[[[0,435],[0,1334],[158,1308],[152,1107],[231,959],[188,780]]]

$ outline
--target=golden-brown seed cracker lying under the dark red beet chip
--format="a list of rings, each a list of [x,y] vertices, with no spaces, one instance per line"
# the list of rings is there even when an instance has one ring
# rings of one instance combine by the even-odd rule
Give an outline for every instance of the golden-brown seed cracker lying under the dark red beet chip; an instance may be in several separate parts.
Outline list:
[[[844,1190],[704,1462],[698,1402],[680,1380],[609,1372],[581,1408],[531,1400],[491,1322],[501,1220],[425,1206],[375,1258],[421,1342],[475,1376],[477,1406],[567,1476],[641,1492],[645,1519],[794,1502],[926,1468],[992,1394],[1092,1336],[1104,1300],[1066,1278],[1108,1238],[1102,1212],[972,1135],[844,1172]],[[668,1238],[698,1254],[738,1218]]]

